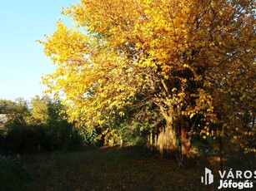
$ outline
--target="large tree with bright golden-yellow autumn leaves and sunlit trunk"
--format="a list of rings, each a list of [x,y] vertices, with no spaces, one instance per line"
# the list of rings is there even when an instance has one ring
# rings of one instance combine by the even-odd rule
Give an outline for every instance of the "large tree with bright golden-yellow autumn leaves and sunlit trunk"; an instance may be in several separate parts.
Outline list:
[[[81,0],[63,14],[74,24],[58,22],[41,42],[58,66],[43,81],[78,126],[126,115],[139,98],[164,117],[158,146],[181,165],[193,130],[249,128],[242,115],[255,114],[255,1]]]

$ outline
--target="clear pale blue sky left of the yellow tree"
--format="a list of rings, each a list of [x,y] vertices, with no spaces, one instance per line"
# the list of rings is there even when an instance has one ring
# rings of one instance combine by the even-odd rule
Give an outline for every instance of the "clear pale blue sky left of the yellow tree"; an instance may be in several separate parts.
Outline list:
[[[62,7],[78,0],[12,0],[2,1],[0,11],[0,99],[30,100],[42,96],[46,86],[41,76],[55,66],[44,56],[43,46],[36,42],[52,34]]]

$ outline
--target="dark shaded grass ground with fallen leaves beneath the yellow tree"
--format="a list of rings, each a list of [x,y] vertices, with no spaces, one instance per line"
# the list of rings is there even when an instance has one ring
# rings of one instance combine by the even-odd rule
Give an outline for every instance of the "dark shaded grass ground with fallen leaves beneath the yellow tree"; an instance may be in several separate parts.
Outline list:
[[[242,157],[242,155],[240,155]],[[255,157],[225,161],[226,168],[248,169]],[[28,190],[217,190],[218,182],[203,185],[204,167],[218,174],[216,157],[198,156],[188,169],[172,159],[139,147],[103,148],[79,152],[53,152],[21,156],[33,181]],[[255,169],[255,168],[254,168]]]

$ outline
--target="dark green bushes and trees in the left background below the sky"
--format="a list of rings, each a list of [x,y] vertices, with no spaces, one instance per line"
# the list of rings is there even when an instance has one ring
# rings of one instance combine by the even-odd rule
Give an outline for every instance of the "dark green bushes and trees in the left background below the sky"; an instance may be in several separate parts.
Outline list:
[[[0,123],[0,154],[88,147],[88,141],[68,122],[65,110],[60,100],[49,96],[35,96],[30,102],[0,99],[0,115],[7,119]]]

